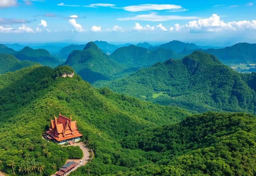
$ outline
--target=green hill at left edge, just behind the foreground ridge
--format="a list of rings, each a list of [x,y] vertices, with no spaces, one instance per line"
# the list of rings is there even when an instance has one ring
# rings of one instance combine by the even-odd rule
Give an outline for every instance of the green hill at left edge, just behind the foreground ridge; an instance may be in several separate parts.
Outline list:
[[[12,55],[7,55],[0,53],[0,74],[5,72],[13,72],[24,67],[30,67],[32,65],[38,64],[33,61],[20,61]]]

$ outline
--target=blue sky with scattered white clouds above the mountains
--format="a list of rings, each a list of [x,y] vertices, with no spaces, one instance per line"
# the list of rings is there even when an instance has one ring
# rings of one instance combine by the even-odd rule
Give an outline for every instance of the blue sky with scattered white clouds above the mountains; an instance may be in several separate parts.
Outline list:
[[[0,40],[256,43],[256,1],[0,0]]]

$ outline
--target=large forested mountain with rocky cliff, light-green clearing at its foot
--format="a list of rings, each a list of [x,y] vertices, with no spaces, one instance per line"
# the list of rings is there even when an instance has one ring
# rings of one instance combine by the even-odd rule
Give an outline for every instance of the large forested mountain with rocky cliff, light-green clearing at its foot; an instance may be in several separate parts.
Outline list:
[[[159,62],[130,76],[94,85],[197,112],[255,113],[255,90],[243,77],[215,56],[194,51],[183,59]]]

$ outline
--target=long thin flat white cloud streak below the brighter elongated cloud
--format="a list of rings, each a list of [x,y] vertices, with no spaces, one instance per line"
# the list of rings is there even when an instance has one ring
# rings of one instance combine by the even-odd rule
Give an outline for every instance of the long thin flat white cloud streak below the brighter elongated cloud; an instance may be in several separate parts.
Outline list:
[[[136,15],[133,17],[118,18],[119,21],[126,20],[142,20],[142,21],[169,21],[169,20],[182,20],[182,19],[198,19],[196,16],[177,16],[177,15],[157,15],[152,12],[146,15]]]

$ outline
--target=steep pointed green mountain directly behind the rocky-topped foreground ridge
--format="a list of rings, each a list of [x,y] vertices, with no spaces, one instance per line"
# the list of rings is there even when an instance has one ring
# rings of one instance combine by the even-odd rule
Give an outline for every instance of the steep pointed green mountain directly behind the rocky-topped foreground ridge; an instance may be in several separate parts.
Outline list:
[[[83,80],[90,83],[110,80],[112,76],[121,74],[126,69],[103,53],[94,42],[87,43],[82,51],[72,51],[63,65],[69,65]]]

